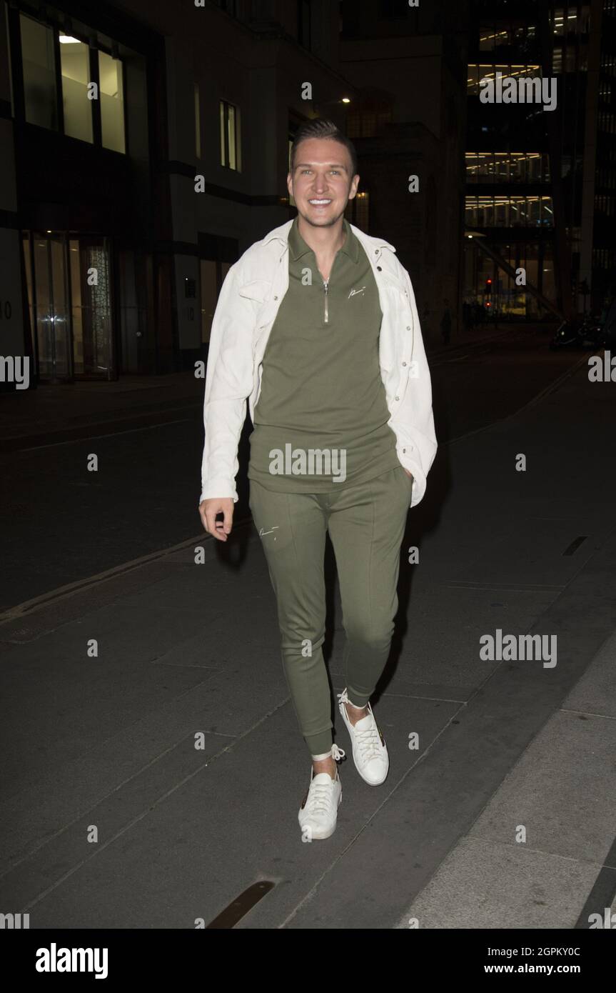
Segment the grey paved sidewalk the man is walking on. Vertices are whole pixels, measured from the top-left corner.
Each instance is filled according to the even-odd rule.
[[[440,448],[373,699],[390,775],[359,779],[334,713],[347,760],[326,841],[301,840],[308,751],[252,524],[0,625],[4,911],[31,927],[193,928],[264,879],[238,927],[566,928],[612,906],[613,389],[582,366]],[[556,665],[482,660],[499,629],[556,636]]]

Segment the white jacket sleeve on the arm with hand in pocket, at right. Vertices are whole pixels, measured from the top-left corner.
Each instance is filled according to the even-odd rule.
[[[411,368],[401,408],[396,413],[396,426],[402,438],[401,461],[413,474],[411,506],[416,506],[426,493],[427,477],[436,455],[436,435],[432,414],[431,375],[420,316],[415,302],[411,277],[404,266],[405,283],[413,317]]]

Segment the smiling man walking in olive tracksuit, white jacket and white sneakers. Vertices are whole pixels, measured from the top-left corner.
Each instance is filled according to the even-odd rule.
[[[436,452],[411,280],[392,245],[344,217],[358,183],[352,143],[331,121],[308,121],[294,141],[287,179],[298,215],[227,273],[205,378],[199,513],[221,541],[238,499],[237,448],[249,399],[250,508],[312,760],[298,815],[310,838],[335,830],[335,763],[344,756],[332,743],[321,650],[325,534],[346,635],[339,710],[355,767],[376,786],[389,756],[369,700],[391,646],[407,512],[424,497]]]

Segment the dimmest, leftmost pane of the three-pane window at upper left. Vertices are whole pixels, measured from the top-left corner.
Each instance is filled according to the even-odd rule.
[[[26,120],[58,130],[54,32],[20,14]]]

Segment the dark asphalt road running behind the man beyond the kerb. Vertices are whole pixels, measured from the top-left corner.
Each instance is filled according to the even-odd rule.
[[[544,331],[512,329],[491,343],[456,347],[431,361],[439,443],[506,417],[580,358],[551,353]],[[5,483],[0,611],[201,533],[198,408],[156,426],[0,455]],[[100,429],[93,429],[94,431]],[[240,501],[248,516],[248,420],[240,444]],[[87,470],[88,456],[98,471]],[[429,491],[430,492],[430,491]]]

